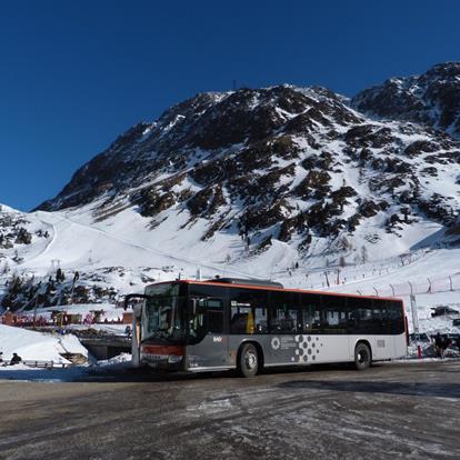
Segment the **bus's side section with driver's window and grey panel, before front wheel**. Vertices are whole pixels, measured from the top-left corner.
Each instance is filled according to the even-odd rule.
[[[223,299],[192,298],[189,314],[189,369],[230,364],[228,334],[223,328]]]

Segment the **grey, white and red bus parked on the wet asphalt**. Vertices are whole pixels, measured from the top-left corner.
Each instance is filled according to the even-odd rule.
[[[372,361],[407,353],[402,300],[221,278],[148,286],[134,308],[134,366],[181,371]]]

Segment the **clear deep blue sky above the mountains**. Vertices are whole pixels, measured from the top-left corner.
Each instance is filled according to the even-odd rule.
[[[0,2],[0,202],[30,210],[139,121],[201,91],[352,96],[460,60],[460,2]]]

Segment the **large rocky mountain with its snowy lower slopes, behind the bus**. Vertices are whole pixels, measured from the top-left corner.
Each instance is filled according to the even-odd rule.
[[[33,212],[0,212],[0,288],[17,271],[40,279],[44,296],[58,266],[67,280],[43,303],[70,292],[71,301],[108,301],[197,268],[370,293],[417,267],[420,282],[456,274],[452,123],[441,131],[397,109],[378,113],[361,107],[362,94],[350,102],[292,86],[203,93],[137,124]],[[87,289],[77,300],[76,271]]]

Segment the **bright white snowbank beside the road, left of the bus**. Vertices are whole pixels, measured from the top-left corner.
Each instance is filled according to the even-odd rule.
[[[63,353],[88,357],[88,350],[74,336],[52,336],[4,324],[0,324],[0,351],[6,362],[11,360],[13,352],[24,361],[53,361],[60,364],[70,363],[61,356]]]

